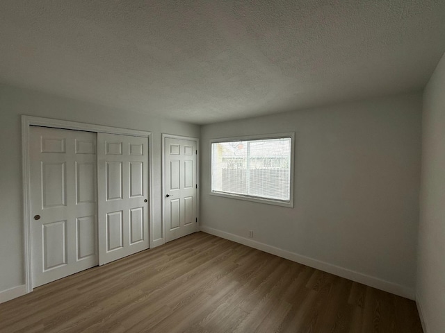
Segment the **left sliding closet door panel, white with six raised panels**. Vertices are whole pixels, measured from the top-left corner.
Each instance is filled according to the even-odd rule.
[[[97,265],[96,134],[31,126],[33,287]]]

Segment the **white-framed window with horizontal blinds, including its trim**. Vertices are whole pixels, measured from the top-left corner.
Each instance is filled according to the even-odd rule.
[[[211,142],[211,194],[293,207],[293,133]]]

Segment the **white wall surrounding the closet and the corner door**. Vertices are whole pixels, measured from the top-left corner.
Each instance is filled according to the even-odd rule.
[[[8,85],[0,85],[0,110],[0,296],[24,284],[21,114],[152,132],[153,239],[161,237],[161,133],[199,137],[199,126]]]

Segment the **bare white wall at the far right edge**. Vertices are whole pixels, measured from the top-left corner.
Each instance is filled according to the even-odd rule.
[[[423,93],[417,301],[428,333],[445,330],[445,55]]]

